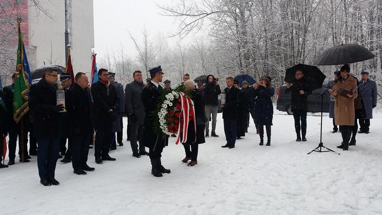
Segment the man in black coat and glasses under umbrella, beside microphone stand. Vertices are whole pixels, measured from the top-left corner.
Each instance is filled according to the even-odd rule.
[[[296,130],[297,142],[301,141],[301,135],[303,136],[303,141],[307,141],[307,112],[308,112],[308,96],[312,94],[309,90],[308,82],[304,78],[304,72],[302,70],[297,70],[295,73],[295,78],[293,83],[286,84],[287,89],[285,89],[285,94],[291,92],[291,107],[294,118],[294,128]],[[301,125],[300,125],[301,121]]]

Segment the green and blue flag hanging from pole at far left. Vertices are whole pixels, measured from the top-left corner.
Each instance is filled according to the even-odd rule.
[[[22,41],[22,32],[20,30],[21,18],[17,18],[17,22],[18,48],[16,73],[18,73],[18,75],[15,79],[15,89],[13,94],[13,119],[15,122],[19,122],[21,117],[29,111],[29,86],[32,83],[31,70],[29,68],[28,59],[26,58],[24,43]]]

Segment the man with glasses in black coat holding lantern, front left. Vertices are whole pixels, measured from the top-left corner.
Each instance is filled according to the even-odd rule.
[[[57,105],[57,79],[57,69],[44,68],[41,80],[31,86],[29,93],[29,108],[34,119],[33,134],[38,143],[37,167],[44,186],[60,184],[54,179],[54,171],[60,151],[60,111],[64,110],[64,106]]]

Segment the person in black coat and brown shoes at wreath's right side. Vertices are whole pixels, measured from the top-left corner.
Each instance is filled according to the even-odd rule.
[[[187,86],[188,84],[189,86]],[[194,87],[191,87],[192,85]],[[199,90],[195,88],[194,82],[192,80],[186,80],[186,82],[184,82],[184,87],[186,88],[186,91],[190,91],[190,97],[194,101],[196,131],[195,122],[194,120],[191,120],[188,123],[187,141],[183,143],[186,157],[182,160],[182,162],[187,163],[188,160],[191,160],[187,166],[192,167],[198,164],[198,145],[206,142],[204,139],[204,128],[208,119],[204,114],[202,97]]]

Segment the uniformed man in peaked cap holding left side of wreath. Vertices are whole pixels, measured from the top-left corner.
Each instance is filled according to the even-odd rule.
[[[145,86],[142,91],[141,99],[143,106],[145,107],[145,121],[143,124],[143,143],[146,147],[149,147],[149,156],[151,160],[151,174],[155,177],[162,177],[162,173],[170,173],[170,170],[165,169],[162,164],[160,157],[162,156],[163,148],[168,145],[169,138],[166,135],[157,136],[154,135],[154,119],[152,117],[152,112],[155,110],[158,99],[160,97],[163,88],[159,86],[162,82],[162,69],[160,66],[154,67],[149,70],[151,81]],[[131,134],[132,135],[132,134]]]

